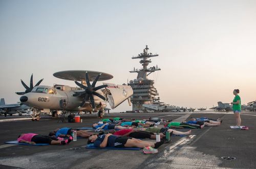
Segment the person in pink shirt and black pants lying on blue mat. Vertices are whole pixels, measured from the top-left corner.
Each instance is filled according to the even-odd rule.
[[[50,145],[66,145],[69,144],[72,140],[72,137],[69,137],[68,139],[58,139],[48,135],[39,135],[35,133],[20,134],[17,139],[19,143],[27,143],[31,145],[39,143],[46,143]]]

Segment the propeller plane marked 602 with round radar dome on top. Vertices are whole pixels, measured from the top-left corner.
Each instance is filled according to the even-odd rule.
[[[103,85],[95,87],[97,81],[112,79],[113,76],[110,74],[96,71],[69,70],[56,72],[53,76],[65,80],[74,80],[78,87],[66,85],[41,86],[40,83],[43,79],[33,86],[32,74],[30,87],[21,80],[26,91],[16,92],[16,94],[22,95],[20,101],[23,104],[33,107],[33,116],[37,120],[40,119],[41,110],[49,113],[56,110],[99,110],[103,112],[107,101],[113,109],[126,99],[131,105],[130,96],[133,95],[133,90],[130,86],[103,83]],[[78,81],[81,81],[81,83]],[[93,82],[90,83],[90,81]]]

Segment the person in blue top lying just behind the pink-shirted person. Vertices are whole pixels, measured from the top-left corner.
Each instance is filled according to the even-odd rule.
[[[65,127],[55,129],[53,132],[49,133],[49,136],[55,135],[56,137],[70,137],[74,130],[76,130],[77,137],[88,138],[91,134],[94,134],[92,132]]]

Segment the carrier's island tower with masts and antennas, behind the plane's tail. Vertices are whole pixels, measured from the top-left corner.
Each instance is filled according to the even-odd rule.
[[[143,49],[143,53],[138,54],[132,59],[140,59],[140,64],[143,66],[141,69],[133,69],[131,73],[138,73],[137,78],[130,80],[129,86],[133,88],[133,96],[131,101],[133,103],[133,111],[144,110],[143,104],[152,104],[158,96],[158,92],[154,87],[154,80],[148,79],[148,75],[155,71],[161,70],[158,66],[147,67],[151,63],[152,57],[158,57],[158,54],[152,54],[148,52],[148,47]]]

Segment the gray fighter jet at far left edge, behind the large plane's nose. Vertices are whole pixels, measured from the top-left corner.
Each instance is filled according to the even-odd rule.
[[[0,100],[0,114],[4,114],[5,117],[8,115],[12,116],[13,114],[18,113],[19,116],[28,112],[29,106],[24,104],[5,104],[5,99]]]

